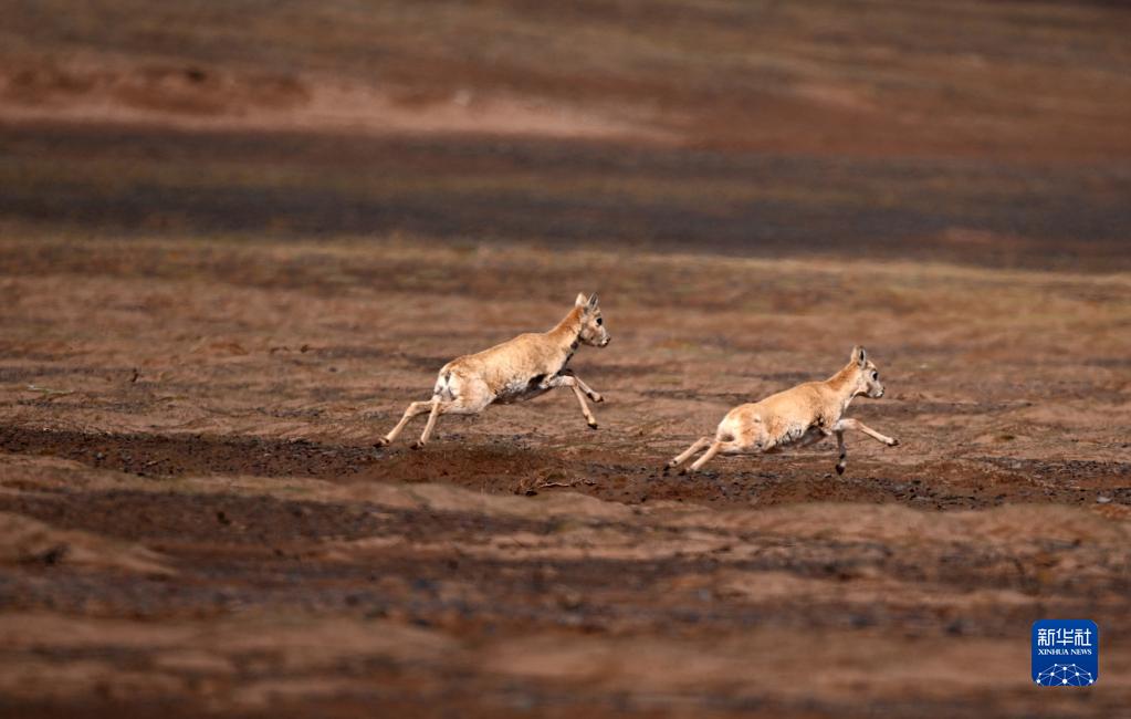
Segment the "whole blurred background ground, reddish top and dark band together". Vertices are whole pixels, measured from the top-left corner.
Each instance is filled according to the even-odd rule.
[[[1125,268],[1100,2],[7,2],[0,209]]]

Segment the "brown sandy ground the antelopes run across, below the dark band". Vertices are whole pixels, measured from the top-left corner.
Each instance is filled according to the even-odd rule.
[[[45,238],[0,266],[9,711],[1126,709],[1115,639],[1094,691],[1027,679],[1036,618],[1131,631],[1125,275]],[[596,286],[601,429],[559,393],[370,446]],[[852,413],[900,447],[658,471],[857,341],[889,393]]]

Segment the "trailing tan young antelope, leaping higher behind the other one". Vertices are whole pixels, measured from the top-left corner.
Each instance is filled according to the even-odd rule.
[[[428,423],[421,438],[413,443],[414,450],[428,443],[441,414],[478,414],[489,404],[530,400],[554,387],[572,390],[585,421],[596,429],[597,420],[585,399],[594,402],[605,399],[566,365],[579,344],[605,346],[608,340],[597,296],[586,299],[585,294],[578,294],[573,309],[550,332],[520,334],[490,350],[465,354],[444,365],[432,388],[432,399],[409,404],[397,426],[378,439],[375,446],[383,447],[396,439],[417,414],[428,412]]]

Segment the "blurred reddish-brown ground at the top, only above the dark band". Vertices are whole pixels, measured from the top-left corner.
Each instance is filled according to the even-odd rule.
[[[1131,152],[1117,2],[5,5],[0,117],[607,137],[760,152]]]

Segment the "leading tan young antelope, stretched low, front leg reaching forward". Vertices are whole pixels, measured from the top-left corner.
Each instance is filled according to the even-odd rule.
[[[844,474],[848,453],[845,430],[856,429],[889,447],[899,444],[860,420],[845,418],[848,403],[864,394],[873,400],[883,396],[880,373],[867,359],[864,348],[853,348],[844,369],[824,382],[806,382],[761,402],[740,404],[723,418],[715,437],[700,437],[688,450],[664,467],[664,471],[682,467],[692,455],[706,448],[691,465],[697,471],[716,454],[762,454],[780,452],[787,446],[804,447],[830,436],[837,436],[840,460],[837,473]],[[687,468],[680,470],[683,474]]]

